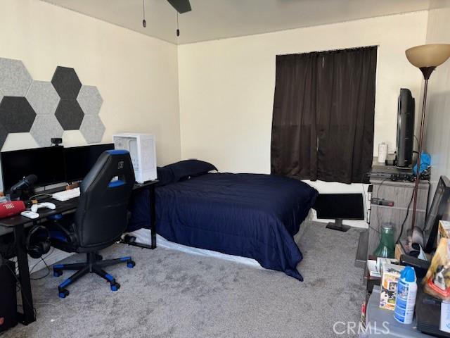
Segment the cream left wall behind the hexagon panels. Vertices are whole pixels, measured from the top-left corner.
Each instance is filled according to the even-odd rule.
[[[51,80],[57,65],[75,68],[103,96],[103,142],[117,132],[157,139],[158,164],[180,158],[177,47],[38,0],[0,0],[0,57],[23,61],[34,80]],[[85,144],[65,132],[66,146]],[[34,147],[11,134],[3,151]]]

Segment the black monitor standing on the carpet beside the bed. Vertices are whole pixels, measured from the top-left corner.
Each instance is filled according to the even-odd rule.
[[[317,218],[335,219],[328,229],[347,231],[349,227],[342,220],[364,220],[363,194],[319,194],[314,204]]]

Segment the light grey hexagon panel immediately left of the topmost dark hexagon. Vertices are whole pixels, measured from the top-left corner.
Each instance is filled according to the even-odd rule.
[[[59,103],[58,93],[47,81],[33,81],[26,97],[38,115],[55,113]]]

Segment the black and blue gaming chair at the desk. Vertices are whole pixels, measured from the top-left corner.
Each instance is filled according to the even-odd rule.
[[[98,158],[80,186],[77,211],[71,220],[62,218],[46,223],[51,244],[66,252],[86,253],[84,263],[53,265],[53,275],[63,270],[77,270],[58,286],[60,298],[68,296],[70,284],[87,273],[96,273],[110,282],[111,290],[120,284],[104,270],[105,266],[127,263],[133,268],[131,257],[103,261],[98,251],[117,242],[127,227],[127,206],[134,185],[134,170],[128,151],[108,150]]]

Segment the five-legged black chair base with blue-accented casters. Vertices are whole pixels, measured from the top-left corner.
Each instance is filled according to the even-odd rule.
[[[134,268],[134,265],[136,265],[136,263],[134,263],[134,261],[129,256],[116,259],[108,259],[105,261],[103,261],[102,256],[98,255],[95,252],[89,252],[86,254],[86,256],[87,257],[85,263],[53,265],[53,276],[55,277],[63,275],[63,270],[77,270],[75,274],[59,284],[58,294],[60,298],[65,298],[69,295],[69,290],[66,289],[66,287],[68,287],[70,284],[73,284],[74,282],[79,280],[79,278],[88,273],[95,273],[96,275],[99,275],[104,280],[110,283],[111,291],[117,291],[120,288],[120,284],[115,281],[115,278],[112,275],[106,273],[102,268],[119,263],[127,263],[128,268]]]

